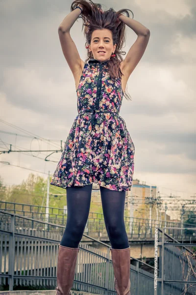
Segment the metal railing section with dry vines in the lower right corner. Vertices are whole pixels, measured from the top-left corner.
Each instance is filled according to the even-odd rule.
[[[167,234],[171,228],[156,228],[154,295],[196,294],[196,228],[178,228],[192,234],[192,242],[180,243]],[[158,275],[159,247],[159,275]]]

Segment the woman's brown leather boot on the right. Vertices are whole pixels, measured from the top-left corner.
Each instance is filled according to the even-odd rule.
[[[112,264],[115,276],[115,290],[118,295],[130,295],[130,246],[125,249],[112,249]]]

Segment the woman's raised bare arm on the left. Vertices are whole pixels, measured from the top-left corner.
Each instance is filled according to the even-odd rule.
[[[80,7],[82,9],[81,5]],[[74,78],[78,73],[81,72],[84,66],[84,61],[80,59],[75,43],[73,42],[73,39],[70,35],[70,29],[80,14],[81,10],[79,8],[74,9],[64,18],[58,28],[62,51]]]

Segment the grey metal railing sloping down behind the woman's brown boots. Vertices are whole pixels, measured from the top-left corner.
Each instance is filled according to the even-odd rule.
[[[0,223],[1,289],[55,289],[58,244],[62,237],[59,230],[55,230],[61,229],[63,232],[64,226],[1,210],[0,214],[3,216]],[[26,220],[32,227],[21,228],[21,220]],[[110,246],[86,234],[83,236],[97,242],[105,251],[80,242],[73,290],[116,294]],[[130,259],[131,294],[151,295],[154,276],[142,269],[148,265],[132,257]]]

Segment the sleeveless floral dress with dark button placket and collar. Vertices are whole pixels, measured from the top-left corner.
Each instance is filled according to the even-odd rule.
[[[121,79],[109,75],[108,60],[84,64],[73,121],[51,185],[62,188],[97,183],[114,191],[131,190],[135,147],[119,116]]]

